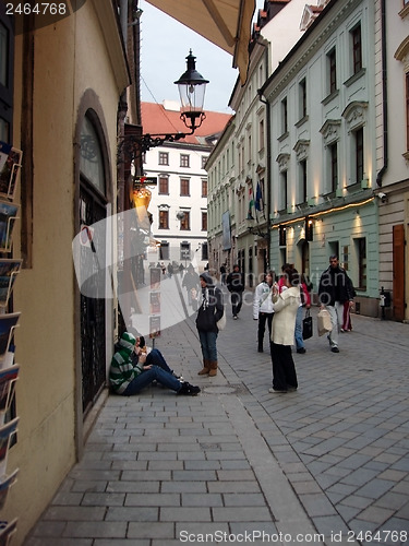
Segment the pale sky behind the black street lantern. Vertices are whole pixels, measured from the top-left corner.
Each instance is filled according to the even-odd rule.
[[[171,0],[169,0],[171,1]],[[257,9],[264,0],[257,0]],[[232,68],[232,57],[199,34],[181,25],[145,0],[140,0],[141,15],[141,94],[142,100],[161,104],[178,100],[179,80],[187,70],[185,58],[192,49],[196,70],[209,80],[205,110],[231,114],[230,100],[239,71]],[[256,12],[257,13],[257,10]]]

